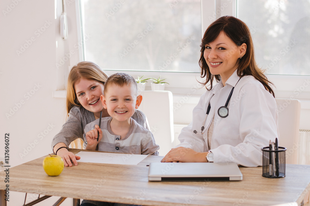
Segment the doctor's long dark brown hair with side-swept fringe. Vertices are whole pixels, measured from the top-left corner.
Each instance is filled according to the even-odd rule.
[[[240,46],[243,43],[246,44],[246,54],[241,59],[238,59],[237,75],[239,77],[246,75],[255,77],[255,79],[260,81],[264,85],[265,89],[274,97],[274,92],[270,86],[273,85],[272,82],[267,79],[263,73],[263,70],[260,69],[255,62],[254,46],[249,28],[243,21],[233,16],[222,16],[218,20],[215,20],[212,24],[210,24],[203,35],[200,45],[201,55],[199,65],[201,68],[201,77],[206,77],[206,81],[200,83],[205,86],[208,82],[210,82],[210,88],[208,90],[211,90],[212,80],[214,78],[217,82],[221,80],[220,75],[211,74],[203,56],[205,45],[213,42],[219,36],[221,31],[223,31],[225,35],[229,37],[237,46]]]

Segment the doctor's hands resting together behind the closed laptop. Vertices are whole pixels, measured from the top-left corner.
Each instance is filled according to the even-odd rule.
[[[208,152],[196,152],[190,148],[177,147],[171,149],[161,162],[207,162]]]

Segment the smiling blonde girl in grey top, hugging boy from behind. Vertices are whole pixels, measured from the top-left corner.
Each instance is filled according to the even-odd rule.
[[[69,145],[74,140],[81,138],[85,125],[100,117],[109,116],[104,109],[100,96],[104,91],[104,83],[108,75],[93,62],[80,62],[73,66],[68,77],[66,105],[68,117],[60,132],[53,138],[53,152],[61,156],[64,166],[78,165],[79,156],[68,151]],[[149,130],[145,115],[135,110],[132,118],[139,125]]]

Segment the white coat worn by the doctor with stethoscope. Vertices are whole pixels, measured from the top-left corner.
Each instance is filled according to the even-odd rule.
[[[176,147],[188,147],[197,152],[210,150],[214,162],[235,162],[246,167],[262,165],[261,148],[268,147],[269,140],[274,142],[279,138],[276,101],[253,76],[244,76],[237,83],[238,80],[235,71],[226,86],[219,81],[212,90],[202,94],[193,109],[193,121],[182,129],[181,143]],[[225,105],[233,86],[228,116],[221,118],[217,111]],[[206,132],[194,134],[193,130],[201,133],[209,103],[211,109],[204,125]],[[208,148],[207,131],[213,118],[211,148]]]

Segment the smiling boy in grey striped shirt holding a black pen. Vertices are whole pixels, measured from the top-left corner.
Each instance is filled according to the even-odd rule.
[[[85,149],[96,150],[98,146],[99,151],[158,155],[153,134],[131,118],[142,101],[133,77],[125,73],[111,75],[100,99],[110,117],[102,118],[101,128],[99,119],[85,126]]]

